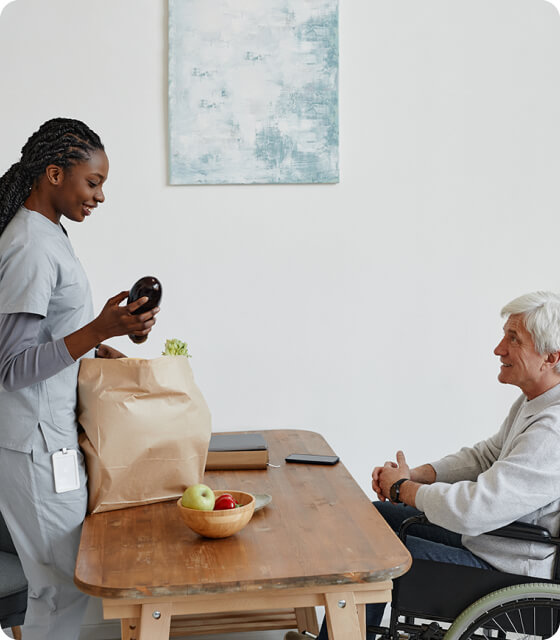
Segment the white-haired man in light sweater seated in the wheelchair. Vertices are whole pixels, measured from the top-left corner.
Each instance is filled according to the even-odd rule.
[[[519,387],[522,395],[499,431],[414,469],[399,451],[396,462],[373,470],[372,487],[381,501],[375,506],[394,530],[417,509],[443,528],[429,534],[417,528],[407,539],[413,558],[551,578],[552,547],[484,532],[522,520],[558,534],[560,296],[526,294],[507,304],[502,316],[504,337],[494,349],[501,362],[498,380]],[[379,625],[383,609],[368,605],[368,624]],[[327,637],[323,624],[319,638]],[[298,638],[305,636],[286,635]]]

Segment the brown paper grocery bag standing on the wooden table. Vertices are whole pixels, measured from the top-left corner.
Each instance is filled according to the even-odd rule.
[[[186,356],[84,358],[78,420],[89,513],[177,498],[202,480],[210,412]]]

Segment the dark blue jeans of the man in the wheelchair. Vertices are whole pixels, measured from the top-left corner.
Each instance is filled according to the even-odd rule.
[[[407,518],[418,515],[420,511],[403,504],[390,502],[373,503],[391,528],[398,532],[402,522]],[[492,567],[478,558],[461,544],[461,536],[441,527],[413,525],[408,529],[406,546],[410,555],[418,560],[435,560],[436,562],[448,562],[461,564],[467,567],[480,569],[492,569]],[[381,624],[385,604],[366,605],[366,624],[378,626]],[[327,624],[323,620],[319,640],[327,640]],[[375,634],[367,634],[367,640],[374,640]]]

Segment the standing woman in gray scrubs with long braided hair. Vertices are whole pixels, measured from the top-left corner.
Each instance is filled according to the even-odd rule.
[[[77,639],[87,596],[73,583],[87,505],[76,419],[79,360],[120,357],[103,340],[146,335],[147,298],[122,291],[94,317],[61,224],[105,200],[101,140],[78,120],[45,122],[0,178],[0,512],[29,583],[25,640]]]

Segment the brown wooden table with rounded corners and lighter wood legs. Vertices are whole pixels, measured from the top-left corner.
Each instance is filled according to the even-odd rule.
[[[390,600],[410,555],[342,462],[286,464],[290,453],[333,452],[311,431],[262,433],[279,468],[205,474],[214,489],[272,496],[230,538],[193,533],[175,502],[86,518],[75,582],[122,620],[123,640],[167,640],[171,616],[185,614],[291,608],[301,626],[315,606],[331,640],[358,640],[365,604]]]

